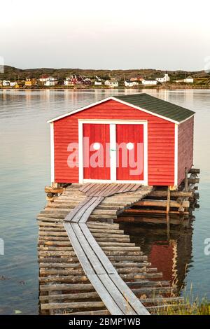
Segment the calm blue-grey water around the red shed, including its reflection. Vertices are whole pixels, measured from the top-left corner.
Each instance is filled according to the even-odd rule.
[[[138,225],[129,230],[166,278],[179,276],[188,290],[193,284],[194,295],[210,298],[210,256],[204,255],[204,239],[210,237],[210,91],[146,92],[196,111],[194,159],[202,170],[200,209],[195,210],[192,229],[174,228],[169,238],[164,227]],[[0,255],[0,314],[38,313],[36,214],[45,205],[43,188],[50,183],[46,121],[108,94],[113,91],[0,91],[0,238],[5,244],[5,255]]]

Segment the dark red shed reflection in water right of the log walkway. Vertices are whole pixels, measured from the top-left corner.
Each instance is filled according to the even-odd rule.
[[[123,223],[120,229],[148,256],[152,267],[162,272],[164,280],[175,283],[179,290],[185,288],[185,279],[192,265],[193,228],[187,225],[170,225],[153,223]]]

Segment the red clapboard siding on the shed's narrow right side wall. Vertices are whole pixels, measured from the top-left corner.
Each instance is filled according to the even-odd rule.
[[[193,165],[193,130],[194,117],[178,127],[178,185],[185,178],[185,168]]]

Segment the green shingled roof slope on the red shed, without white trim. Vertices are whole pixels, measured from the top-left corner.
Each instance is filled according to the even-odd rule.
[[[158,114],[159,116],[177,121],[178,123],[190,118],[190,116],[193,116],[195,113],[181,106],[153,97],[150,94],[114,95],[113,97],[134,106],[141,107],[141,109],[150,111],[154,114]]]

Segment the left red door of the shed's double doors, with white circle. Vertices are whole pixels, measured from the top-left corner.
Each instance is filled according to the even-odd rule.
[[[83,179],[110,180],[109,124],[83,125]]]

